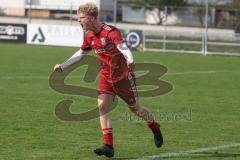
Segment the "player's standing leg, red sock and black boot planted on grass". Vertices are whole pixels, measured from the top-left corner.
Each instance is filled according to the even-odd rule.
[[[100,94],[98,96],[98,107],[100,115],[100,124],[103,133],[104,145],[94,150],[97,155],[105,155],[107,157],[114,156],[112,124],[109,117],[114,96],[111,94]]]

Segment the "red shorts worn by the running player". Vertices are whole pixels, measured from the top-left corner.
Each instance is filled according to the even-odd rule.
[[[100,75],[98,94],[112,94],[118,95],[129,106],[134,106],[137,102],[138,94],[136,88],[136,80],[133,73],[129,73],[128,76],[117,82],[110,82],[106,78]]]

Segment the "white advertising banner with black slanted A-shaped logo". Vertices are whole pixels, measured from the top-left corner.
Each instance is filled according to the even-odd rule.
[[[27,43],[80,47],[83,43],[81,26],[28,24]]]

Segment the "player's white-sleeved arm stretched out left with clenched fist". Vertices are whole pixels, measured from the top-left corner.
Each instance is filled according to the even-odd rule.
[[[73,64],[80,62],[87,53],[88,53],[88,51],[83,51],[82,49],[79,49],[77,52],[75,52],[70,58],[68,58],[62,64],[56,64],[54,66],[54,71],[57,71],[57,72],[64,71],[65,69],[72,66]]]

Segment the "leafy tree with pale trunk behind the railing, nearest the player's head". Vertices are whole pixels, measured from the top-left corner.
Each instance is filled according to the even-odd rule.
[[[145,8],[145,10],[157,11],[159,22],[162,24],[164,16],[161,12],[164,10],[164,7],[177,7],[187,4],[187,0],[131,0],[132,4],[136,8]],[[167,16],[167,15],[166,15]]]

